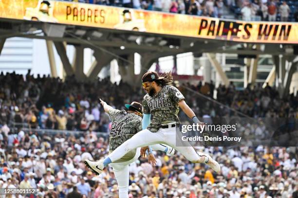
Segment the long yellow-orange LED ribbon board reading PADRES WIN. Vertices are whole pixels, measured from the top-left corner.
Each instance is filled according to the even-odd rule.
[[[0,17],[226,41],[298,44],[298,23],[224,20],[54,0],[0,0]]]

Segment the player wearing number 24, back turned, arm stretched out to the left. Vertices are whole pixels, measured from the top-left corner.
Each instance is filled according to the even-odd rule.
[[[142,105],[138,102],[132,102],[131,104],[125,104],[125,107],[128,109],[127,111],[120,111],[113,109],[101,99],[100,102],[103,105],[105,112],[107,112],[112,119],[109,142],[110,152],[112,152],[126,140],[130,139],[134,134],[142,130]],[[173,155],[175,152],[175,149],[161,144],[152,145],[151,148],[154,150],[164,151],[169,155]],[[141,148],[131,149],[123,157],[121,157],[121,159],[118,159],[110,164],[118,182],[119,198],[128,198],[129,164],[139,158],[140,149]],[[156,160],[153,154],[149,154],[148,159],[152,165],[155,165]],[[86,162],[85,164],[91,168],[93,172],[98,174],[96,166],[90,166],[89,163]]]

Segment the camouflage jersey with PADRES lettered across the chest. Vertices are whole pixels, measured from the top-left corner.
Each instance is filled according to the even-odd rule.
[[[151,114],[151,121],[147,129],[157,132],[162,123],[175,121],[180,124],[178,118],[178,102],[185,99],[182,93],[174,86],[164,85],[154,96],[146,94],[143,99],[143,113]]]

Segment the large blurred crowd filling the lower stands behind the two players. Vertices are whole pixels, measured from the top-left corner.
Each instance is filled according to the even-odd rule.
[[[117,109],[141,101],[142,89],[109,80],[80,83],[75,78],[34,78],[15,73],[0,74],[0,188],[34,187],[37,197],[117,198],[117,183],[111,169],[95,176],[82,163],[98,160],[109,152],[106,137],[109,115],[97,104],[105,99]],[[280,99],[270,86],[235,89],[214,84],[185,84],[179,89],[199,116],[233,115],[228,108],[198,97],[196,92],[252,117],[298,118],[298,97]],[[125,92],[123,91],[125,90]],[[216,90],[216,94],[214,93]],[[183,115],[181,115],[183,119]],[[26,131],[14,128],[25,123]],[[42,129],[83,131],[43,133]],[[298,164],[296,147],[196,147],[221,163],[216,174],[203,164],[189,163],[176,153],[158,152],[157,165],[144,158],[130,165],[131,198],[296,198]]]

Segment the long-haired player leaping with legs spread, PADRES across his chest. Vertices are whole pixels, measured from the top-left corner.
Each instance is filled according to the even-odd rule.
[[[143,130],[116,148],[104,160],[86,163],[100,174],[105,166],[119,160],[131,150],[162,143],[178,150],[190,162],[205,163],[215,172],[219,172],[220,165],[208,154],[196,153],[190,144],[187,147],[176,146],[176,131],[179,131],[176,127],[180,123],[177,116],[179,107],[189,118],[192,118],[194,123],[199,125],[204,123],[199,121],[186,104],[182,93],[176,87],[169,85],[172,80],[171,73],[166,73],[164,77],[159,77],[154,71],[145,73],[142,82],[148,94],[143,99]]]

